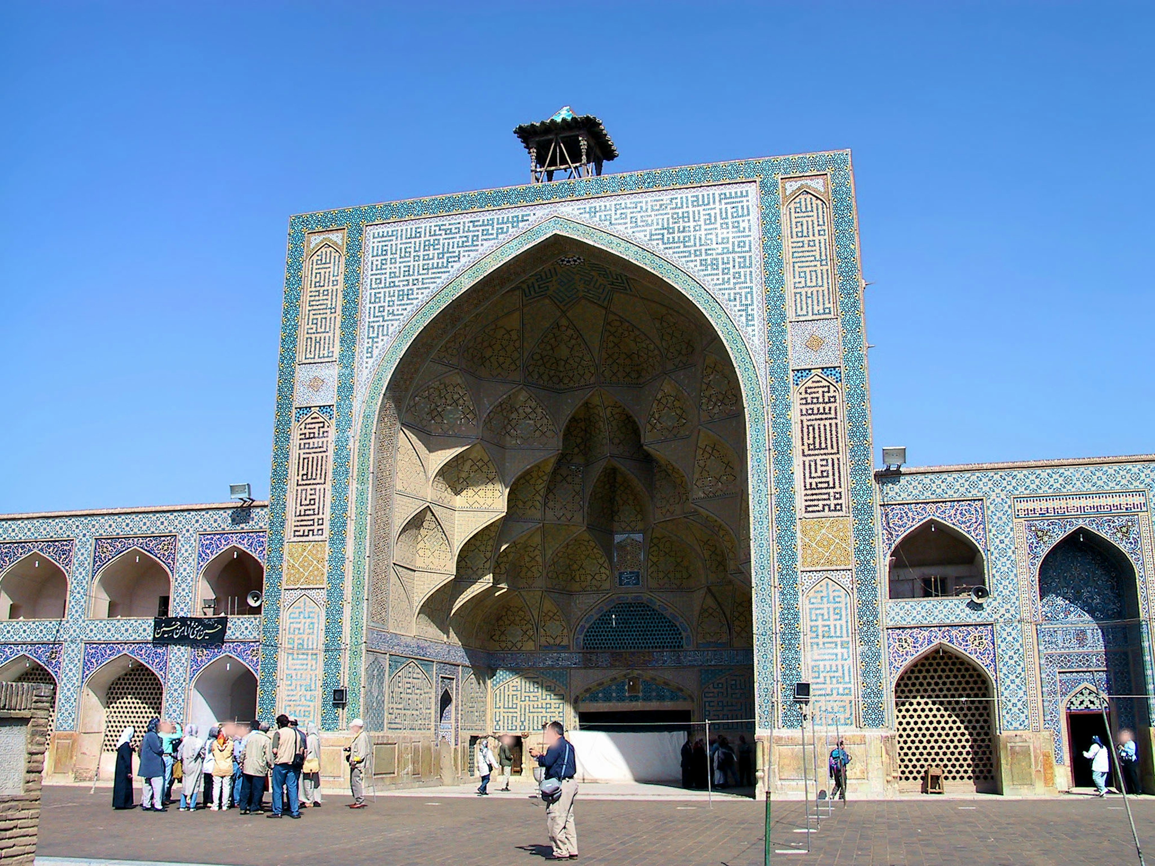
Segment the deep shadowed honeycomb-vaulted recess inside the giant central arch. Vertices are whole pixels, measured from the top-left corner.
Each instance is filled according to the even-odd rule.
[[[711,607],[707,625],[720,632],[715,620],[732,620],[733,636],[707,643],[751,644],[748,513],[765,525],[768,501],[751,492],[765,477],[747,477],[747,435],[758,445],[765,434],[754,367],[732,351],[740,338],[714,301],[677,274],[661,275],[549,237],[447,306],[435,300],[419,330],[398,336],[396,360],[383,363],[380,388],[366,396],[377,425],[362,428],[373,442],[373,480],[370,518],[357,531],[371,533],[375,622],[467,651],[582,649],[576,624],[621,603],[609,611],[610,628],[620,618],[636,634],[608,643],[691,649],[687,624],[702,619],[692,593],[710,585],[720,612]],[[449,403],[459,410],[450,421],[468,425],[446,420],[438,408]],[[438,469],[483,449],[495,468],[484,480],[495,477],[501,491],[477,509],[504,514],[463,508],[464,487]],[[681,536],[692,574],[651,587],[655,521],[673,517],[686,527],[666,535]],[[483,521],[492,537],[477,529]],[[730,589],[738,572],[742,603]],[[642,593],[654,604],[635,611]]]

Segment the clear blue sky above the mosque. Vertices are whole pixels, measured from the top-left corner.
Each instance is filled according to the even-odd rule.
[[[5,3],[0,512],[267,495],[289,215],[562,104],[614,171],[852,149],[877,447],[1155,451],[1150,5],[551,8]]]

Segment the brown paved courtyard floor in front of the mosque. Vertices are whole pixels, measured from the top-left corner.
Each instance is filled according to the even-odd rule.
[[[267,800],[268,798],[266,798]],[[236,866],[536,866],[549,853],[545,809],[523,793],[489,798],[381,796],[366,809],[328,797],[299,821],[178,812],[114,812],[111,791],[46,786],[40,858]],[[579,863],[591,866],[760,866],[763,804],[716,799],[594,800],[579,793]],[[1155,798],[1132,800],[1140,841],[1155,852]],[[805,851],[803,808],[774,804],[772,846]],[[900,799],[836,805],[812,852],[775,863],[903,866],[1137,863],[1118,797]]]

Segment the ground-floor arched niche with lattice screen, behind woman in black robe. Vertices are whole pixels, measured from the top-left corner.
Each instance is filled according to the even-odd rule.
[[[140,659],[124,654],[105,662],[81,689],[76,778],[90,779],[99,761],[99,777],[111,778],[120,732],[135,729],[133,748],[140,748],[150,718],[164,706],[164,681]]]

